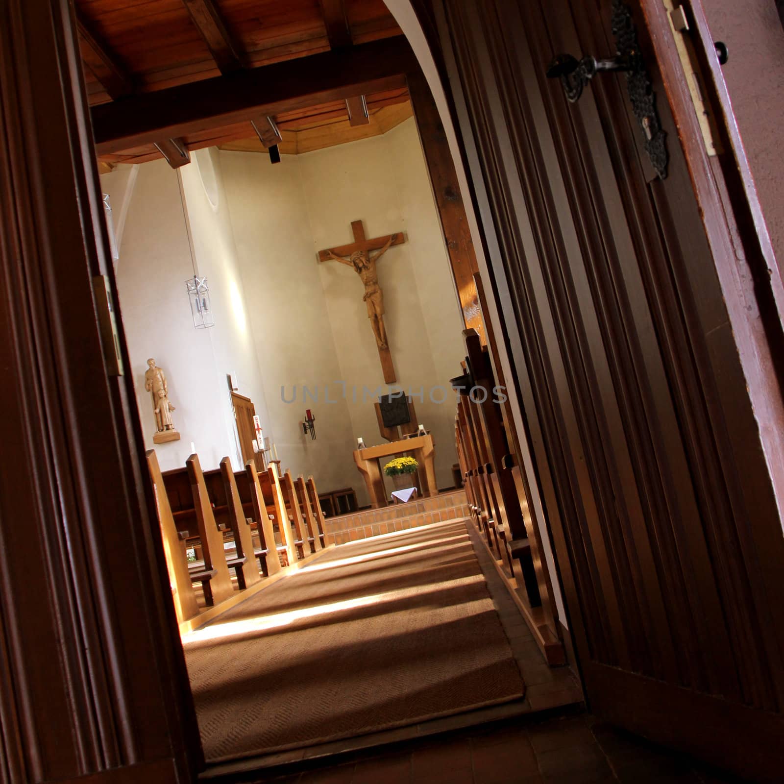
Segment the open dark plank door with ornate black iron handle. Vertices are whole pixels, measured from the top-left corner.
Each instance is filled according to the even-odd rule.
[[[717,155],[665,5],[627,2],[663,180],[624,74],[573,104],[546,78],[558,53],[615,53],[610,0],[429,5],[590,707],[779,776],[780,281],[753,194],[731,179],[742,150],[719,122],[699,0],[690,68],[717,102]]]

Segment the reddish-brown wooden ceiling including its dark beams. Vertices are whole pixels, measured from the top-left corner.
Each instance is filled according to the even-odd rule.
[[[385,41],[401,30],[382,0],[76,0],[76,14],[103,170],[213,145],[311,151],[411,116],[401,69],[377,62],[405,47]]]

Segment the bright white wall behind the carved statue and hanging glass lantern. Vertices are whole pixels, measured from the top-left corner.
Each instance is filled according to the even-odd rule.
[[[125,216],[117,268],[118,299],[128,339],[136,397],[146,448],[154,448],[163,470],[181,467],[194,442],[205,469],[230,456],[239,468],[241,456],[226,380],[237,372],[241,394],[263,411],[263,387],[256,352],[243,311],[242,283],[231,234],[227,202],[214,151],[199,153],[198,162],[184,167],[183,187],[194,235],[199,273],[208,277],[216,326],[194,328],[185,281],[193,275],[191,254],[180,202],[176,172],[164,161],[141,165]],[[213,209],[201,184],[199,162],[210,170]],[[112,196],[125,187],[122,169],[102,176]],[[180,441],[154,445],[152,405],[144,390],[147,358],[162,367]],[[262,411],[259,411],[259,407]]]

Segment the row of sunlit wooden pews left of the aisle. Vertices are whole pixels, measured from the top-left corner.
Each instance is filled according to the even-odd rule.
[[[196,455],[162,472],[154,450],[147,467],[178,622],[200,612],[195,586],[207,606],[220,604],[234,595],[232,573],[246,590],[325,547],[313,477],[280,476],[274,463],[257,471],[251,460],[235,473],[227,457],[203,471]]]

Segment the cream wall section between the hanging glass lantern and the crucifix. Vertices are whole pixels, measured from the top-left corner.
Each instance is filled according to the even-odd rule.
[[[296,156],[275,165],[264,154],[222,152],[234,236],[249,303],[249,321],[278,456],[292,474],[313,474],[318,488],[362,489],[351,452],[355,441],[346,401],[303,402],[303,386],[341,378],[324,289],[313,254]],[[281,396],[285,387],[288,400]],[[336,397],[332,394],[332,397]],[[305,435],[305,409],[316,416],[315,441]]]

